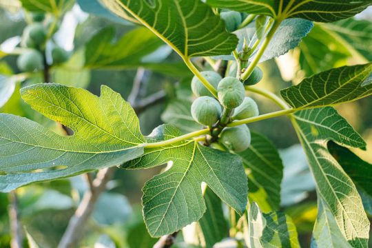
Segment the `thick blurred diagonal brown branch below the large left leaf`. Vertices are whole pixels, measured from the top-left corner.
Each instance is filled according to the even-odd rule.
[[[110,167],[101,169],[98,172],[96,178],[92,182],[92,188],[85,192],[83,200],[81,200],[81,203],[76,209],[74,216],[70,218],[68,228],[59,242],[59,248],[76,247],[76,245],[79,243],[85,224],[92,215],[94,206],[96,205],[99,196],[105,191],[106,185],[114,175],[115,170],[116,167]]]

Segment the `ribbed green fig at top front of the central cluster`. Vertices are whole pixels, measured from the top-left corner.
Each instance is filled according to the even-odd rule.
[[[227,76],[218,83],[218,100],[220,103],[228,108],[234,109],[238,107],[245,97],[245,88],[242,83],[232,77]]]

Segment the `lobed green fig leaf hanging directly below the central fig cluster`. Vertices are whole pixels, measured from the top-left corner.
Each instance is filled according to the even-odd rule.
[[[162,125],[147,141],[164,141],[179,135],[175,127]],[[244,213],[248,187],[239,156],[190,140],[145,149],[143,156],[123,167],[143,169],[165,163],[170,163],[170,168],[143,187],[143,216],[152,236],[171,234],[203,216],[206,207],[202,182],[239,214]]]

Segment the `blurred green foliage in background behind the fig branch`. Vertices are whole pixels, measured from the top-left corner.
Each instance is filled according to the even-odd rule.
[[[146,62],[138,61],[136,54],[130,54],[125,59],[116,58],[117,63],[109,63],[105,58],[95,58],[94,61],[98,49],[94,44],[97,33],[96,39],[103,42],[103,38],[107,38],[107,35],[99,32],[103,32],[102,30],[112,32],[114,35],[112,41],[109,39],[104,46],[109,48],[112,42],[118,42],[118,51],[121,51],[128,49],[128,44],[136,43],[132,40],[120,47],[122,37],[130,34],[137,26],[116,18],[104,9],[94,8],[94,4],[99,2],[90,1],[86,5],[85,3],[87,1],[79,0],[75,5],[69,6],[59,23],[60,30],[54,34],[54,42],[68,50],[72,56],[63,65],[52,68],[52,81],[85,87],[94,94],[99,94],[101,85],[108,85],[127,99],[132,91],[136,68],[143,66],[145,87],[141,88],[139,96],[144,98],[162,90],[167,94],[166,101],[150,106],[139,116],[143,133],[149,134],[154,127],[164,121],[178,125],[185,132],[187,129],[198,128],[191,117],[185,116],[191,105],[189,99],[192,94],[189,85],[192,75],[185,69],[178,56],[163,43],[152,41],[153,49],[149,48],[150,45],[143,44]],[[10,54],[1,58],[1,51],[6,52],[6,49],[14,46],[12,43],[17,43],[17,39],[19,40],[27,25],[29,15],[30,12],[21,8],[19,1],[0,0],[0,44],[2,44],[0,74],[2,75],[20,73],[16,64],[17,55]],[[327,25],[316,23],[315,28],[303,39],[298,48],[278,59],[259,65],[265,75],[260,83],[261,86],[279,93],[280,89],[299,83],[304,76],[333,67],[371,61],[371,17],[372,11],[369,8],[357,17],[358,20],[348,19]],[[114,50],[112,47],[110,49]],[[107,54],[107,56],[114,56],[110,55],[110,51]],[[104,55],[105,52],[102,56]],[[87,63],[89,61],[90,63]],[[199,59],[196,63],[202,66],[204,62]],[[208,65],[205,67],[208,68]],[[8,103],[0,108],[0,112],[25,116],[56,132],[61,132],[56,123],[37,114],[21,100],[20,87],[32,83],[43,83],[42,76],[17,82],[14,94]],[[261,113],[276,110],[275,105],[260,96],[252,94],[251,97],[258,101]],[[340,114],[347,118],[368,143],[366,151],[358,149],[354,152],[369,163],[372,163],[371,108],[371,97],[337,107]],[[282,181],[282,210],[293,218],[302,246],[309,247],[317,214],[315,186],[291,123],[284,117],[254,123],[250,127],[252,130],[264,133],[280,149],[285,165],[285,176]],[[94,245],[96,247],[100,247],[99,245],[101,247],[152,247],[156,240],[149,237],[143,223],[141,188],[145,181],[158,171],[158,168],[117,171],[109,183],[109,189],[101,195],[96,205],[92,219],[85,230],[81,247],[94,247]],[[79,205],[85,190],[87,184],[83,176],[37,183],[17,190],[21,224],[27,227],[28,233],[40,247],[58,245],[68,220]],[[178,247],[187,246],[182,236],[178,239]],[[26,241],[25,246],[27,246]],[[6,194],[0,194],[0,247],[10,247]]]

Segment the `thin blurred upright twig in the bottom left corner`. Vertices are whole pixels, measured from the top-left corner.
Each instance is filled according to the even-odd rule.
[[[10,247],[12,248],[21,248],[23,234],[21,228],[21,221],[19,218],[19,209],[18,209],[18,197],[15,191],[9,193],[9,220],[10,220],[10,232],[12,234],[12,240],[10,241]]]

